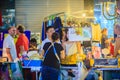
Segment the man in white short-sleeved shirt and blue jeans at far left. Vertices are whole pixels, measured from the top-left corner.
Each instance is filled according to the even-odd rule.
[[[14,43],[15,34],[16,34],[16,28],[14,26],[9,27],[8,35],[3,42],[3,57],[7,57],[8,62],[10,62],[8,64],[8,66],[10,66],[10,69],[8,68],[9,69],[8,75],[9,76],[11,75],[10,76],[11,80],[23,80],[23,76],[18,64],[18,58],[17,58],[16,48]],[[5,80],[8,80],[7,75],[5,76]]]

